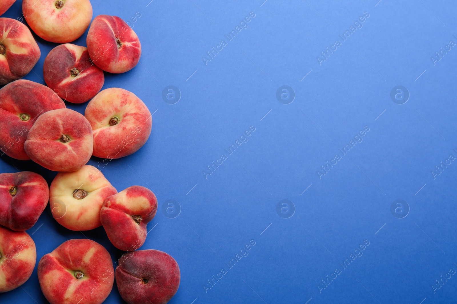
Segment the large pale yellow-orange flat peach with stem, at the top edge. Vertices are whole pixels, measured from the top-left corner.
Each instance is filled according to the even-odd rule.
[[[56,43],[78,39],[92,20],[89,0],[22,0],[22,12],[35,34]]]

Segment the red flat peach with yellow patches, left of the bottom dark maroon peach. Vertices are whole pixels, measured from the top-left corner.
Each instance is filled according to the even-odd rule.
[[[101,304],[113,287],[113,263],[99,243],[69,240],[41,258],[38,281],[51,304]]]

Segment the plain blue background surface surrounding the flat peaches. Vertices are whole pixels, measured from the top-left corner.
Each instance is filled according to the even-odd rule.
[[[141,249],[179,263],[181,286],[170,303],[455,303],[457,278],[431,287],[457,270],[457,163],[431,173],[457,156],[457,47],[431,59],[457,43],[455,1],[149,1],[91,1],[94,17],[129,21],[143,49],[130,72],[105,73],[103,88],[125,88],[154,113],[144,147],[99,168],[118,191],[143,185],[157,195]],[[228,42],[224,35],[250,12],[248,28]],[[362,27],[319,65],[321,52],[365,12]],[[4,16],[20,18],[21,1]],[[85,46],[85,38],[74,44]],[[44,84],[43,61],[56,44],[36,39],[42,56],[25,78]],[[205,65],[221,40],[228,45]],[[173,105],[162,98],[169,85],[181,91]],[[283,85],[294,90],[292,103],[276,99]],[[398,85],[410,94],[404,104],[390,97]],[[85,106],[67,103],[80,113]],[[205,179],[207,165],[250,126],[249,141]],[[363,141],[342,156],[338,149],[365,126]],[[336,154],[342,159],[319,178]],[[1,159],[0,172],[30,170],[49,183],[56,174]],[[290,218],[292,204],[276,212],[284,199],[295,206]],[[404,218],[391,212],[398,199],[409,206]],[[179,202],[179,216],[165,216],[167,200]],[[28,233],[38,260],[70,238],[101,243],[113,262],[123,253],[103,228],[71,232],[49,207]],[[249,255],[205,289],[251,240]],[[319,290],[366,240],[363,255]],[[22,288],[0,294],[1,303],[32,299],[46,303],[36,268]],[[106,303],[123,303],[116,284]]]

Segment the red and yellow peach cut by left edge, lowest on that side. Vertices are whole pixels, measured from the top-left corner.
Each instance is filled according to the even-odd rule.
[[[32,275],[37,250],[27,232],[0,226],[0,293],[13,290]]]

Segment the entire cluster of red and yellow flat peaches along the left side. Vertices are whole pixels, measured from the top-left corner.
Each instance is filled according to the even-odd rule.
[[[0,15],[15,2],[1,0]],[[38,263],[38,280],[51,304],[100,304],[116,276],[127,303],[165,304],[176,293],[180,270],[158,250],[136,250],[157,199],[142,186],[119,193],[94,166],[131,155],[149,138],[152,118],[146,105],[121,88],[100,92],[104,71],[127,72],[141,56],[136,33],[117,16],[99,15],[91,23],[90,0],[22,0],[32,31],[56,46],[44,61],[47,86],[21,80],[41,53],[32,32],[15,19],[0,18],[0,150],[17,160],[33,160],[58,171],[48,188],[34,172],[0,174],[0,292],[25,283],[37,253],[25,232],[48,204],[55,220],[73,231],[103,226],[112,244],[126,251],[116,270],[108,251],[89,239],[64,242]],[[68,42],[89,27],[87,48]],[[100,93],[99,93],[100,92]],[[66,108],[88,103],[85,114]]]

